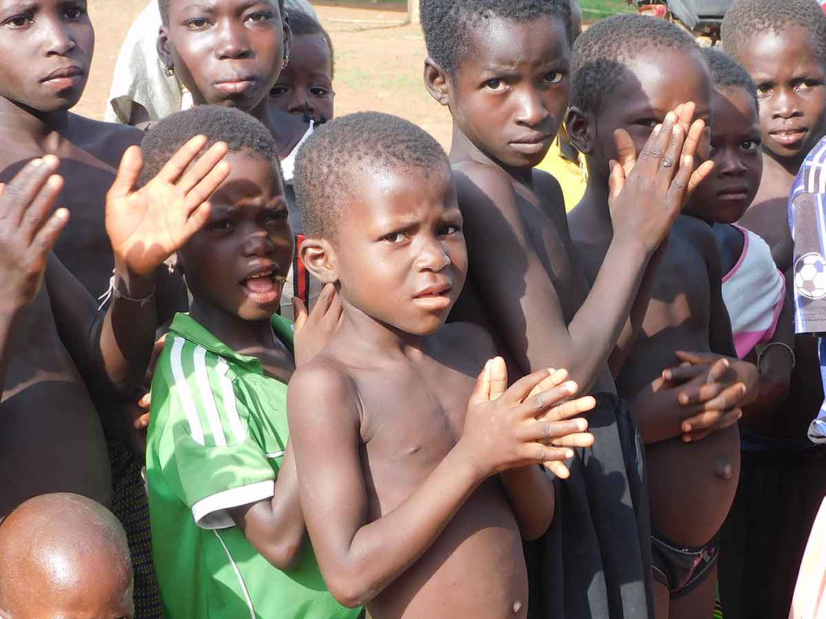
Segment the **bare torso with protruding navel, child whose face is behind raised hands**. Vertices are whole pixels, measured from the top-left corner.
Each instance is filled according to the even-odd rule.
[[[582,211],[577,216],[582,216]],[[597,238],[596,242],[590,237],[579,243],[586,231],[578,222],[572,225],[586,274],[592,278],[605,257],[610,236]],[[698,241],[697,237],[703,235],[707,239]],[[653,283],[642,332],[616,380],[619,395],[624,398],[633,398],[664,369],[676,365],[675,351],[710,352],[713,309],[704,247],[716,251],[710,227],[699,220],[678,217]],[[729,513],[737,489],[737,426],[697,442],[686,443],[674,437],[649,443],[646,459],[652,529],[686,546],[703,546],[710,541]],[[728,479],[718,475],[725,465],[731,465]]]

